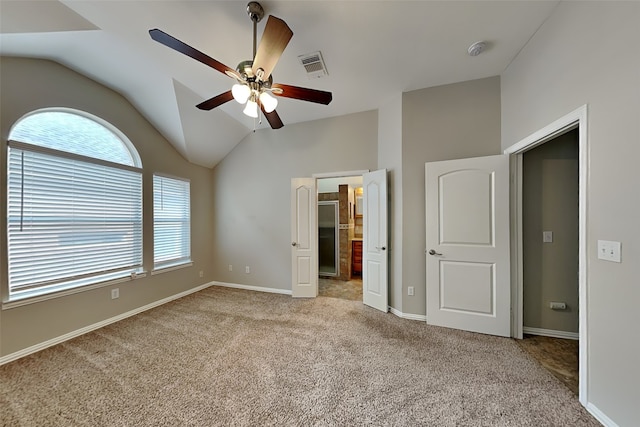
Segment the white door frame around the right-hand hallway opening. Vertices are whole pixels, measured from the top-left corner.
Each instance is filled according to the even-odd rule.
[[[578,400],[587,404],[588,322],[587,322],[587,184],[588,138],[587,105],[575,109],[553,123],[534,132],[504,150],[511,167],[511,330],[514,338],[522,339],[523,327],[523,247],[522,247],[522,155],[570,130],[578,129]]]

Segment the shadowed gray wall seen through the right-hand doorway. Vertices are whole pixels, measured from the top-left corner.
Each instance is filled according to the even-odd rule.
[[[523,326],[578,332],[578,131],[522,157]]]

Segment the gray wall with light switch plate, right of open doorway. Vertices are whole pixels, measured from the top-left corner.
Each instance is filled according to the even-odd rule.
[[[638,2],[561,2],[502,75],[503,148],[587,104],[586,398],[619,426],[640,419],[639,22]]]

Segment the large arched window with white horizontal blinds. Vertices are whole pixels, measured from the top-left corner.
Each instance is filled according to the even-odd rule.
[[[9,299],[142,271],[142,164],[106,121],[32,112],[9,133]]]

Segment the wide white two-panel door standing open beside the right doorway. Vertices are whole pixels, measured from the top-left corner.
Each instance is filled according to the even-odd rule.
[[[509,159],[425,164],[427,322],[510,336]]]

